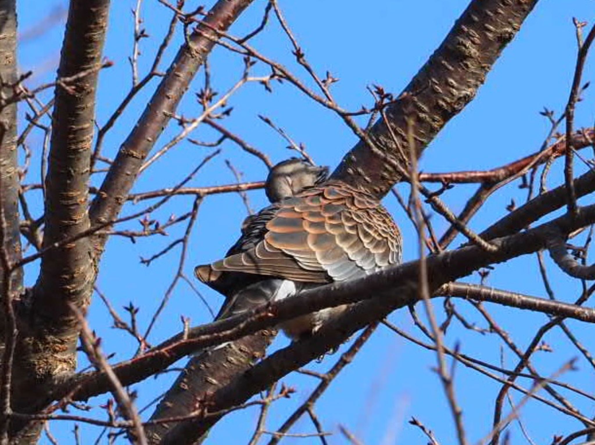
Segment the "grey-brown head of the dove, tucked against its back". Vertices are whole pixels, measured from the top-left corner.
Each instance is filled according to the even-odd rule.
[[[327,180],[328,167],[317,167],[292,157],[275,165],[268,173],[265,192],[271,203],[290,198]]]

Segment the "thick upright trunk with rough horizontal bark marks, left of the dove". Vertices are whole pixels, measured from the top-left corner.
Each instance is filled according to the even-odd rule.
[[[90,153],[108,10],[109,0],[70,2],[58,78],[87,74],[68,81],[66,87],[58,83],[55,89],[43,247],[90,227]],[[81,238],[42,257],[31,310],[20,326],[13,390],[17,411],[35,409],[40,394],[76,367],[80,329],[70,305],[84,312],[89,304],[95,280],[91,254],[89,239]]]

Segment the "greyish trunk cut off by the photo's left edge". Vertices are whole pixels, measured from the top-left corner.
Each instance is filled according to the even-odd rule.
[[[10,97],[10,84],[17,81],[17,13],[15,0],[0,1],[0,78],[2,97]],[[0,206],[5,226],[2,228],[4,245],[0,246],[14,263],[21,258],[21,241],[18,217],[18,162],[17,162],[17,105],[11,103],[0,109]],[[4,288],[4,273],[0,265],[0,289]],[[11,275],[13,295],[23,291],[23,272]],[[4,297],[4,295],[3,295]],[[1,310],[0,310],[1,311]]]

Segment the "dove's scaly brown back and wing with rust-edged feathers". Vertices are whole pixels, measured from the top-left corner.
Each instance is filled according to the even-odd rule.
[[[342,182],[267,207],[243,233],[226,258],[197,268],[199,279],[230,271],[326,283],[373,273],[401,257],[399,229],[389,213]]]

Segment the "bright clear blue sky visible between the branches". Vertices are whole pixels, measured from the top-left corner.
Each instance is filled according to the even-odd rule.
[[[196,6],[195,2],[188,3],[188,8]],[[127,57],[132,48],[133,17],[130,10],[134,4],[136,1],[117,0],[112,5],[105,56],[115,65],[101,72],[97,108],[100,125],[105,123],[130,87],[130,65]],[[371,84],[379,84],[386,90],[399,93],[437,48],[467,4],[467,1],[462,0],[378,0],[365,4],[340,0],[280,1],[287,21],[312,67],[319,75],[323,76],[329,70],[334,77],[340,79],[334,84],[333,93],[338,102],[348,109],[371,105],[371,97],[366,90]],[[242,36],[252,30],[259,23],[265,5],[264,1],[255,1],[234,24],[231,33]],[[20,30],[24,39],[18,58],[21,70],[35,71],[29,83],[32,86],[54,78],[63,33],[63,18],[52,26],[47,23],[40,26],[40,17],[66,7],[64,1],[19,2]],[[170,14],[156,0],[145,0],[142,17],[150,34],[148,39],[141,42],[143,53],[139,67],[144,74],[152,63],[156,46],[168,26]],[[474,102],[456,116],[426,150],[420,163],[422,171],[489,169],[538,150],[549,131],[549,123],[539,112],[546,106],[559,115],[568,99],[576,53],[572,17],[592,23],[595,19],[593,3],[590,0],[566,0],[542,1],[537,5],[518,36],[488,74],[486,84],[480,89]],[[27,32],[39,29],[45,30],[40,36],[27,37],[30,36]],[[162,70],[165,70],[173,58],[181,39],[178,29],[173,44],[165,53]],[[270,58],[286,64],[306,83],[312,84],[306,72],[295,64],[289,42],[273,18],[267,30],[259,34],[252,45]],[[220,94],[241,76],[241,58],[223,48],[216,48],[212,52],[209,64],[212,84]],[[254,69],[255,74],[267,72],[264,66],[256,65]],[[589,80],[592,74],[593,62],[589,59],[584,79]],[[198,116],[201,112],[194,93],[201,89],[202,82],[201,72],[180,106],[179,111],[184,116]],[[108,134],[104,143],[105,156],[115,156],[155,86],[156,81],[152,81],[136,97]],[[295,87],[284,83],[273,84],[273,88],[274,92],[271,94],[258,84],[243,87],[228,103],[233,106],[233,112],[224,121],[225,125],[267,153],[275,162],[292,156],[294,153],[285,148],[286,143],[258,118],[259,114],[266,115],[294,140],[304,143],[317,163],[334,168],[343,154],[355,144],[356,139],[352,132],[333,112],[321,108]],[[47,99],[49,96],[46,94],[43,97]],[[584,99],[577,110],[577,127],[587,127],[593,123],[590,89],[586,91]],[[178,131],[179,127],[170,125],[156,147],[164,146]],[[193,132],[192,137],[213,140],[216,135],[209,128],[201,126]],[[39,133],[34,134],[30,140],[30,148],[37,159],[41,141],[42,134]],[[243,172],[246,180],[264,179],[264,164],[243,153],[233,143],[226,141],[221,147],[223,153],[212,160],[189,185],[234,182],[233,175],[224,163],[226,159],[230,159]],[[155,190],[176,184],[211,151],[189,143],[179,144],[143,173],[134,191]],[[585,151],[584,156],[588,157],[590,154]],[[577,170],[584,171],[580,166]],[[556,163],[548,182],[550,188],[560,184],[560,171],[560,163]],[[30,175],[30,181],[38,181],[36,168]],[[96,185],[100,184],[101,177],[95,178],[94,182]],[[505,206],[511,198],[516,203],[522,203],[526,191],[519,190],[517,185],[509,185],[491,197],[484,209],[472,220],[471,227],[480,231],[505,214]],[[402,190],[406,191],[406,188],[402,187]],[[457,212],[474,190],[475,186],[456,187],[444,195],[444,200]],[[259,209],[266,203],[262,191],[249,192],[249,197],[252,209]],[[32,195],[32,200],[35,199],[37,204],[33,207],[39,212],[39,196]],[[585,198],[585,202],[590,202],[590,198]],[[172,213],[179,215],[186,212],[191,203],[192,198],[175,198],[168,206],[152,214],[152,217],[164,221]],[[417,251],[411,223],[392,197],[387,197],[384,204],[402,227],[405,259],[415,259]],[[140,205],[129,206],[124,214],[134,213],[139,209],[142,209]],[[205,199],[191,237],[185,267],[188,276],[192,276],[192,269],[196,264],[215,260],[225,253],[237,237],[240,223],[245,216],[246,209],[237,194]],[[433,223],[439,233],[447,226],[437,216],[434,216]],[[140,226],[133,222],[127,228],[138,230]],[[184,226],[180,225],[168,231],[170,235],[167,238],[139,239],[136,244],[131,244],[126,239],[114,239],[108,244],[98,279],[99,288],[109,296],[118,310],[130,301],[139,306],[139,323],[144,327],[151,320],[152,313],[176,273],[179,251],[174,250],[156,260],[151,267],[140,264],[139,257],[149,257],[156,253],[179,237],[183,230]],[[455,241],[453,247],[461,241]],[[37,267],[37,264],[33,264],[27,270],[29,284],[35,282]],[[556,295],[560,299],[572,301],[577,297],[580,288],[574,280],[557,273],[551,264],[550,273]],[[478,276],[471,277],[469,281],[478,282]],[[534,257],[518,258],[499,266],[490,274],[488,284],[545,296]],[[201,287],[200,291],[215,308],[222,301],[209,289]],[[482,327],[486,326],[471,307],[464,302],[455,303],[462,313],[468,315],[469,320]],[[440,313],[441,301],[437,300],[435,307]],[[419,310],[422,311],[421,308]],[[493,305],[490,306],[490,311],[520,348],[527,346],[532,333],[547,320],[544,315]],[[123,311],[120,312],[124,315]],[[208,311],[184,283],[177,286],[149,340],[158,343],[178,332],[181,327],[180,315],[192,318],[193,324],[209,321]],[[393,314],[391,320],[421,338],[421,333],[412,326],[411,317],[405,311]],[[104,339],[104,350],[116,354],[113,361],[129,358],[134,353],[134,340],[111,329],[107,311],[97,298],[90,309],[89,323]],[[568,324],[585,345],[593,346],[591,326],[573,322]],[[280,336],[275,345],[284,346],[287,341]],[[559,330],[548,334],[546,341],[555,350],[555,354],[539,352],[534,355],[533,360],[542,375],[553,373],[563,362],[577,356],[576,349],[572,348]],[[494,335],[472,333],[454,323],[447,333],[446,342],[450,346],[461,342],[462,352],[494,364],[500,363],[500,341]],[[327,356],[321,364],[313,364],[312,368],[325,370],[338,358],[339,354]],[[502,360],[507,368],[515,364],[515,358],[508,349],[505,349]],[[179,365],[181,364],[183,361]],[[433,352],[424,351],[380,328],[317,404],[317,414],[322,419],[325,430],[334,433],[330,442],[345,443],[337,430],[337,425],[343,424],[367,444],[425,443],[420,431],[406,422],[411,416],[415,416],[434,431],[440,443],[454,443],[452,416],[447,411],[446,399],[433,371],[435,364]],[[578,368],[579,371],[565,375],[565,378],[593,392],[593,369],[584,361],[578,362]],[[140,393],[139,406],[167,389],[174,374],[169,373],[156,380],[149,379],[135,386]],[[303,375],[292,375],[283,381],[295,387],[297,392],[291,399],[275,404],[269,417],[269,430],[280,426],[318,383]],[[525,387],[530,386],[527,381],[521,382]],[[466,370],[462,365],[457,366],[455,385],[469,438],[472,442],[477,441],[490,430],[493,400],[499,386],[474,371]],[[513,397],[515,402],[520,399],[518,393],[513,393]],[[93,399],[90,403],[98,405],[102,400],[104,399]],[[584,399],[576,403],[587,414],[593,414],[593,403],[585,402]],[[212,430],[211,443],[247,443],[257,415],[258,412],[252,409],[227,416]],[[521,416],[536,443],[549,443],[555,433],[563,434],[573,431],[572,428],[580,428],[578,422],[569,420],[539,402],[529,402]],[[71,424],[52,424],[52,432],[61,443],[74,443],[71,429]],[[302,419],[292,431],[312,432],[313,427],[309,421]],[[95,427],[83,427],[83,443],[93,443],[98,433],[99,430]],[[524,443],[516,425],[511,428],[511,433],[512,443]],[[314,438],[286,439],[288,444],[317,441]]]

